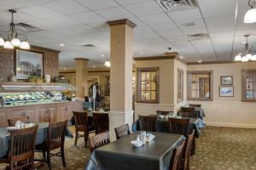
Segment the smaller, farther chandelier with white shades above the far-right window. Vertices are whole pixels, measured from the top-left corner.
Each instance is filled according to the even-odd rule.
[[[249,44],[248,44],[249,35],[245,35],[244,37],[247,38],[247,41],[245,43],[245,52],[237,54],[236,57],[235,57],[235,61],[243,61],[243,62],[246,62],[246,61],[249,61],[249,60],[256,61],[256,54],[250,54],[249,53],[250,52]]]

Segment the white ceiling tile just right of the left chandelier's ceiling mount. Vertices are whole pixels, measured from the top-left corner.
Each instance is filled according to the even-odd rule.
[[[31,14],[41,19],[47,19],[52,17],[60,17],[61,14],[55,12],[54,10],[44,6],[44,5],[36,5],[32,7],[20,8],[20,11]]]

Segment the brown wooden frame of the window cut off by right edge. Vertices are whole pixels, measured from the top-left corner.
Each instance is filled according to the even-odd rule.
[[[248,102],[255,102],[256,98],[254,99],[247,99],[247,73],[253,72],[256,75],[256,69],[247,69],[241,70],[241,101],[248,101]],[[256,82],[255,82],[256,83]]]

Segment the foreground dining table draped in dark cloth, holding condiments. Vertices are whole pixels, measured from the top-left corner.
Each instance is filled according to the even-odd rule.
[[[172,151],[182,144],[183,135],[148,132],[155,136],[141,147],[131,144],[141,132],[131,133],[94,150],[84,170],[168,170]]]

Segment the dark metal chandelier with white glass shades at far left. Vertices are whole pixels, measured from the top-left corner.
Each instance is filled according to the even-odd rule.
[[[9,31],[6,32],[5,39],[3,37],[0,37],[0,46],[3,46],[3,48],[8,49],[30,49],[30,44],[26,42],[27,37],[23,34],[19,34],[15,30],[14,14],[16,13],[16,11],[14,9],[9,9],[9,12],[12,14],[12,19],[11,22],[9,23]]]

